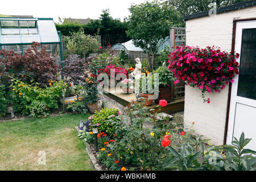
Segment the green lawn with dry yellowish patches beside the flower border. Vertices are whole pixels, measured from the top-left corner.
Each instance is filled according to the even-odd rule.
[[[88,115],[0,123],[0,170],[94,170],[75,126]],[[46,165],[38,164],[39,151]]]

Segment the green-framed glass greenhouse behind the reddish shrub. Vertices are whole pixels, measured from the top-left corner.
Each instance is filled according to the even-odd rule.
[[[32,42],[46,46],[46,52],[60,64],[61,35],[52,18],[0,18],[0,48],[23,54]]]

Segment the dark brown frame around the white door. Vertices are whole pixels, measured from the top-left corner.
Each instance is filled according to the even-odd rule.
[[[232,36],[232,51],[235,51],[236,46],[236,32],[237,32],[237,23],[238,22],[250,22],[256,20],[256,18],[246,18],[246,19],[234,19],[233,20],[233,36]],[[228,92],[228,105],[226,110],[226,124],[225,124],[225,132],[224,132],[224,143],[227,143],[228,140],[228,129],[229,129],[229,114],[230,114],[230,102],[232,95],[232,83],[229,82],[229,92]]]

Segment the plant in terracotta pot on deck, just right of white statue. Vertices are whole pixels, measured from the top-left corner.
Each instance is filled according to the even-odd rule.
[[[151,100],[148,96],[154,95],[154,75],[142,75],[142,77],[139,78],[139,92],[141,94],[141,97],[146,98],[145,104],[147,106],[151,106],[153,100]]]

